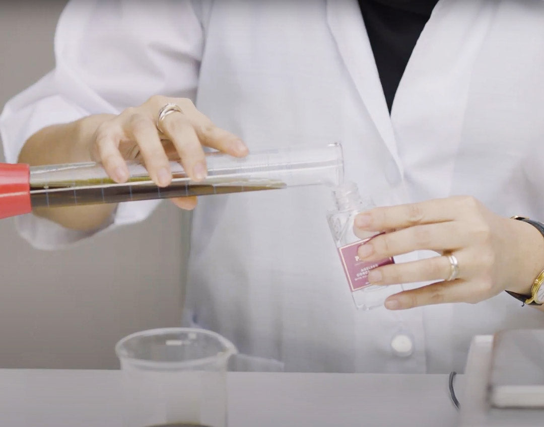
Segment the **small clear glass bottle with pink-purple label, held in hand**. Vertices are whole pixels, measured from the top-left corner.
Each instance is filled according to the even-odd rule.
[[[346,182],[333,189],[336,210],[327,214],[332,236],[338,248],[344,273],[348,279],[355,306],[362,310],[370,310],[384,305],[385,299],[393,293],[400,292],[400,286],[376,286],[368,283],[368,272],[375,267],[394,263],[393,258],[380,261],[362,261],[357,256],[357,249],[380,233],[369,232],[363,239],[355,236],[353,231],[355,216],[359,212],[368,211],[375,205],[372,199],[361,199],[357,185]]]

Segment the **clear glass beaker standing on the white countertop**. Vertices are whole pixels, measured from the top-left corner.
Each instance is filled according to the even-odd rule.
[[[191,328],[137,332],[115,346],[126,427],[227,426],[226,370],[236,347]]]

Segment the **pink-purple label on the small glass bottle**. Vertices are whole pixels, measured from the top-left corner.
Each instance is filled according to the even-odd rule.
[[[372,236],[375,237],[375,236]],[[393,258],[381,259],[380,261],[361,261],[357,255],[357,249],[372,239],[360,240],[359,242],[351,243],[338,248],[338,254],[342,260],[345,276],[348,278],[351,292],[369,286],[368,272],[376,267],[381,267],[386,264],[393,264]]]

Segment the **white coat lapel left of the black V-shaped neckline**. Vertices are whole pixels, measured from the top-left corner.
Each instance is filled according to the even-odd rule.
[[[400,169],[391,117],[357,1],[327,0],[327,21],[355,88]]]

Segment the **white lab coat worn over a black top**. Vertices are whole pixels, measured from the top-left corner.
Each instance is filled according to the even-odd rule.
[[[347,178],[379,205],[471,194],[498,214],[544,219],[544,2],[441,0],[391,117],[356,0],[71,2],[55,55],[56,69],[4,109],[9,162],[50,123],[188,96],[251,150],[342,141]],[[120,205],[106,230],[156,203]],[[462,371],[473,335],[544,327],[544,313],[504,293],[356,311],[325,221],[331,203],[317,187],[202,197],[184,323],[286,370],[390,373]],[[33,215],[17,227],[44,248],[89,234]],[[410,357],[392,349],[400,330]]]

